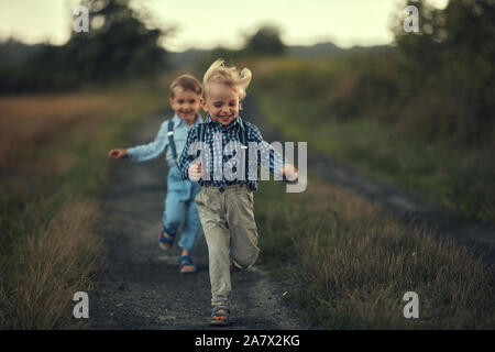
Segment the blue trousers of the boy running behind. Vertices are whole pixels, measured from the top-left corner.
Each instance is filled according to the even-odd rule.
[[[163,216],[164,231],[175,235],[184,224],[178,245],[189,252],[193,252],[201,233],[201,222],[195,204],[195,197],[200,190],[201,186],[198,183],[183,179],[177,166],[170,167]]]

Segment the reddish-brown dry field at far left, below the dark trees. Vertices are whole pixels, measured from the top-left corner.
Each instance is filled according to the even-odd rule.
[[[68,94],[0,98],[0,169],[19,165],[34,148],[75,131],[98,124],[132,100],[118,96]]]

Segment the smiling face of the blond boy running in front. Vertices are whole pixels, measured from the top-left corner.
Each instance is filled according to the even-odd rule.
[[[239,116],[239,90],[218,82],[210,82],[206,88],[202,109],[220,124],[230,124]]]

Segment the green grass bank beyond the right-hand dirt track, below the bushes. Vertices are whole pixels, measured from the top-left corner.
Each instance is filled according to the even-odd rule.
[[[293,141],[402,185],[466,219],[495,220],[495,163],[477,150],[426,143],[373,120],[342,122],[314,101],[258,89],[263,116]]]

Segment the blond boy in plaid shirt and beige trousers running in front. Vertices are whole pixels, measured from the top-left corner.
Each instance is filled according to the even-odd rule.
[[[202,186],[196,205],[208,245],[213,307],[210,324],[229,324],[231,265],[249,268],[257,260],[260,250],[253,190],[260,182],[258,157],[270,155],[268,168],[275,175],[289,180],[297,178],[296,168],[273,153],[260,130],[239,116],[240,101],[245,97],[250,80],[248,68],[238,72],[235,67],[227,67],[221,59],[209,67],[204,78],[201,100],[208,116],[202,127],[190,129],[179,160],[183,177],[199,180]],[[196,146],[201,144],[204,152],[197,158]],[[232,145],[238,145],[235,156],[239,157],[243,148],[246,151],[245,146],[249,145],[249,151],[256,148],[255,163],[251,163],[251,158],[248,167],[244,166],[246,158],[232,163],[233,156],[228,158],[229,155],[233,155]],[[242,169],[240,174],[238,168]]]

